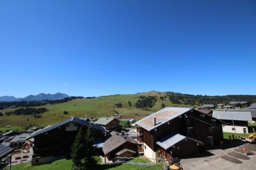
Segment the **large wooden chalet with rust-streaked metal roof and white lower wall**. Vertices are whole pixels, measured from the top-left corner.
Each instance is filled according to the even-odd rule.
[[[135,122],[144,156],[158,158],[191,155],[200,146],[219,145],[223,122],[192,108],[167,107]]]

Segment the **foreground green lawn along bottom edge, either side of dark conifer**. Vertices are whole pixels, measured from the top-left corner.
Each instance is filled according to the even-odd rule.
[[[95,156],[97,160],[97,165],[92,170],[103,170],[103,169],[111,169],[111,170],[161,170],[163,168],[163,165],[152,165],[152,166],[141,166],[141,165],[128,165],[128,164],[100,164],[101,160],[99,156]],[[56,160],[55,162],[51,164],[44,164],[44,165],[36,165],[31,166],[30,163],[23,163],[18,165],[13,165],[12,169],[14,170],[48,170],[48,169],[54,169],[54,170],[70,170],[72,168],[72,160],[69,159],[61,159]]]

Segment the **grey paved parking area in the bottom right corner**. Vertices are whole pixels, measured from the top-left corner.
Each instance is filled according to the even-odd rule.
[[[243,154],[243,146],[250,152]],[[181,159],[184,170],[189,169],[256,169],[256,145],[244,143],[236,147],[215,148],[205,153]]]

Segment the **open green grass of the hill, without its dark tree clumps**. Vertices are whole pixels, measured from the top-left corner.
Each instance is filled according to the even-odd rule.
[[[140,116],[134,116],[134,113],[143,115],[145,113],[152,113],[161,109],[162,103],[165,103],[166,106],[178,106],[170,103],[168,97],[166,101],[162,101],[159,97],[165,95],[165,92],[159,94],[159,92],[151,91],[147,93],[139,93],[133,95],[110,95],[110,96],[101,96],[94,99],[76,99],[69,101],[63,104],[53,104],[45,105],[49,111],[42,113],[42,118],[34,118],[32,115],[29,116],[2,116],[0,117],[0,127],[11,125],[22,127],[24,125],[36,124],[39,126],[47,126],[55,124],[56,122],[63,121],[71,116],[75,117],[104,117],[111,116],[114,114],[112,109],[114,104],[122,103],[123,108],[116,109],[119,113],[125,114],[124,117],[129,118],[141,118]],[[139,99],[139,96],[149,96],[157,95],[158,101],[151,108],[151,111],[143,111],[142,109],[137,109],[134,107],[134,104]],[[131,101],[132,106],[130,107],[128,101]],[[183,107],[184,105],[179,105]],[[5,113],[14,109],[6,109],[1,112]],[[69,114],[63,115],[63,111],[68,111]]]

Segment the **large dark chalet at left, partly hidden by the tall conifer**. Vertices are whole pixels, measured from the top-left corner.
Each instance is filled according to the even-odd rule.
[[[102,141],[97,139],[104,138],[106,132],[108,132],[101,125],[76,117],[36,131],[27,138],[28,140],[34,138],[34,155],[31,164],[44,164],[65,158],[71,152],[71,146],[75,141],[78,130],[81,128],[86,133],[89,126],[94,130],[95,141]],[[99,143],[95,144],[98,145]]]

